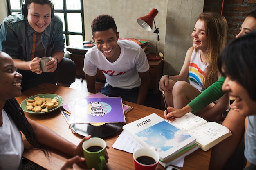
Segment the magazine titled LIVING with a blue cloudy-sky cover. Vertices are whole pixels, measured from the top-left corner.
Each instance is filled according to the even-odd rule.
[[[196,138],[173,126],[155,113],[123,126],[146,148],[154,148],[164,161],[195,144]]]

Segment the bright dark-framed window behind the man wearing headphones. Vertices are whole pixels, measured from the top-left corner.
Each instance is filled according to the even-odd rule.
[[[63,22],[65,45],[85,41],[83,0],[52,0],[54,13]],[[7,0],[9,15],[20,13],[22,0]],[[20,4],[20,5],[19,5]]]

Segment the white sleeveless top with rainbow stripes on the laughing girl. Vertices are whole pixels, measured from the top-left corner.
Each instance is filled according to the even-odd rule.
[[[189,64],[189,83],[200,92],[205,89],[202,80],[204,79],[206,68],[206,63],[201,61],[200,52],[194,49]]]

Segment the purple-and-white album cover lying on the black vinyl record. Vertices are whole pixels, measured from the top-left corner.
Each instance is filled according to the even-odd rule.
[[[125,122],[121,97],[76,98],[69,124]]]

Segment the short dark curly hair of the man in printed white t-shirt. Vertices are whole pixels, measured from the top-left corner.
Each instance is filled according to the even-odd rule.
[[[99,15],[92,20],[92,35],[96,31],[105,31],[108,29],[113,29],[114,33],[117,34],[117,25],[114,21],[114,18],[110,15]]]

